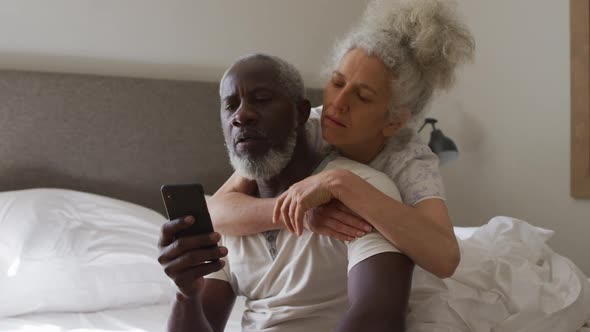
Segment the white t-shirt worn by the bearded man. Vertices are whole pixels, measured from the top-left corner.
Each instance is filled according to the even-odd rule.
[[[347,169],[399,200],[387,175],[367,165],[328,156],[316,172]],[[305,231],[223,236],[225,267],[207,278],[225,280],[245,297],[244,331],[333,331],[348,308],[347,272],[383,252],[399,252],[378,232],[351,242]]]

